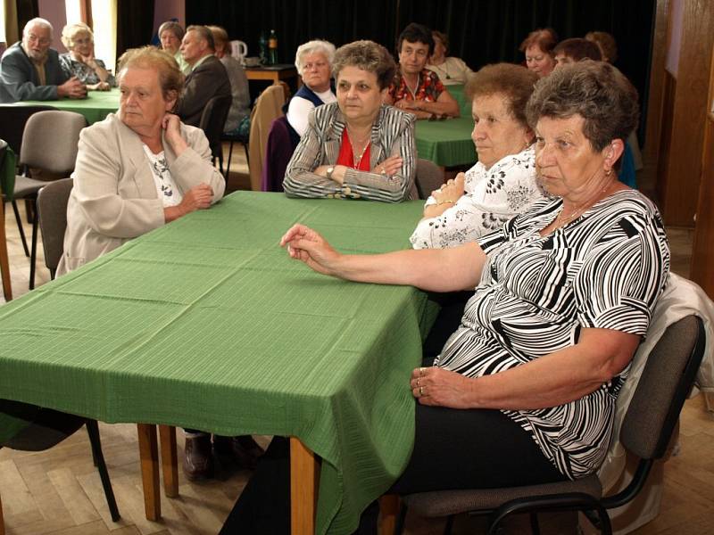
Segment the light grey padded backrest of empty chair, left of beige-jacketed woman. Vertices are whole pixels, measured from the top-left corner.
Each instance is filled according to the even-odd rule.
[[[37,111],[22,134],[20,163],[66,177],[77,160],[79,132],[87,119],[74,111]]]

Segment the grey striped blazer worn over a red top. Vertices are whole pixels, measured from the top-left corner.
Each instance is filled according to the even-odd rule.
[[[330,197],[401,202],[416,199],[413,187],[416,169],[414,121],[411,113],[383,105],[372,125],[369,167],[388,157],[402,157],[402,169],[392,177],[347,169],[343,185],[313,173],[320,165],[334,165],[340,152],[345,116],[337,103],[310,112],[308,128],[287,164],[283,189],[288,197]]]

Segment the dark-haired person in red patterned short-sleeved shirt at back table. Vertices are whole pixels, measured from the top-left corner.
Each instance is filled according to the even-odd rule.
[[[384,103],[408,111],[417,119],[459,117],[459,103],[444,88],[436,72],[426,69],[434,53],[431,30],[412,22],[400,34],[396,47],[399,69]]]

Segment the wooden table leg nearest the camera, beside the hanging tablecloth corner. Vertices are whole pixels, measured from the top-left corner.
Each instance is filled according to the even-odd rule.
[[[315,454],[300,439],[290,437],[290,532],[315,532],[315,506],[320,473]]]

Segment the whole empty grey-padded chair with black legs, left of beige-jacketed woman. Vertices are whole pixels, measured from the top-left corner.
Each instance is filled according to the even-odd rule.
[[[32,249],[29,255],[29,289],[35,287],[35,264],[37,259],[37,192],[47,185],[46,180],[29,177],[29,169],[41,169],[55,177],[69,177],[77,160],[79,132],[87,126],[84,116],[73,111],[37,111],[31,115],[22,134],[20,164],[23,168],[21,176],[15,177],[15,187],[12,197],[12,208],[21,228],[17,215],[17,199],[25,199],[31,203],[32,217]],[[27,254],[27,251],[26,251]]]

